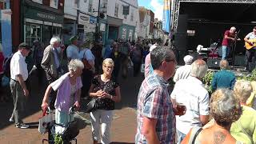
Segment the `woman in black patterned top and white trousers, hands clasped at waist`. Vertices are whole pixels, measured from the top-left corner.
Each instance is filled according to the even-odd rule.
[[[111,77],[113,69],[114,61],[111,58],[106,58],[102,62],[103,74],[95,76],[90,86],[90,97],[98,98],[97,110],[90,112],[94,144],[98,143],[100,138],[102,138],[102,144],[110,143],[114,102],[121,101],[120,86]],[[100,130],[102,131],[101,136],[99,135]]]

